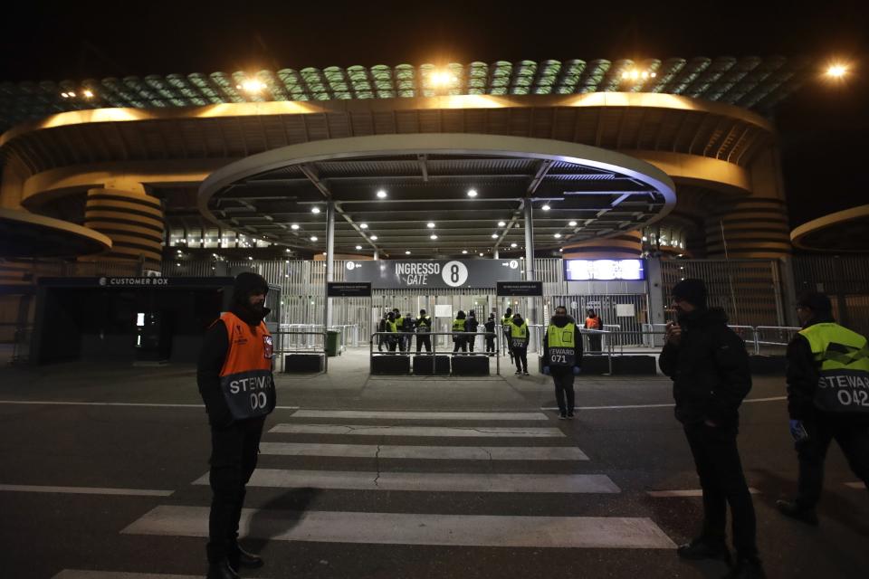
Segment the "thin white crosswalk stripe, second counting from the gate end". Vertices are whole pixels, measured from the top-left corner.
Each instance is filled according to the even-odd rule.
[[[269,432],[281,434],[351,434],[357,436],[434,436],[469,438],[564,438],[564,432],[551,427],[494,426],[381,426],[368,424],[277,424]]]

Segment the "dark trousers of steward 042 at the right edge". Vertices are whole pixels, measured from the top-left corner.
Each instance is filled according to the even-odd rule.
[[[848,465],[869,489],[869,425],[855,425],[823,415],[803,422],[808,433],[805,441],[797,442],[799,480],[797,505],[815,508],[824,487],[824,460],[830,442],[836,439]]]

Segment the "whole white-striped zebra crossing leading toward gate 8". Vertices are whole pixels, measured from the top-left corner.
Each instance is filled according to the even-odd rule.
[[[622,492],[553,423],[540,412],[295,411],[263,433],[260,466],[248,485],[249,508],[242,512],[240,534],[324,544],[673,549],[673,541],[649,517],[609,511],[606,516],[585,516],[600,511],[584,513],[582,508],[573,512],[583,516],[565,516],[560,509],[540,506],[549,504],[542,502],[548,496],[555,502],[567,497],[593,504]],[[206,537],[207,485],[206,472],[180,498],[177,492],[175,500],[162,500],[120,533]],[[354,503],[356,510],[330,510],[328,501],[326,508],[256,508],[263,503],[256,500],[258,494],[276,489],[316,489],[320,497],[362,495]],[[425,493],[425,512],[402,512],[406,501],[399,498],[412,493]],[[371,496],[377,499],[366,502]],[[474,498],[483,507],[456,512],[450,505],[459,497]],[[490,500],[502,505],[505,498],[525,501],[533,506],[525,510],[533,512],[515,508],[492,514],[503,509]],[[151,576],[68,569],[55,579]]]

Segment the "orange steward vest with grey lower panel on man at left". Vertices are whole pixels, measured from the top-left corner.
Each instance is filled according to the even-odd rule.
[[[220,317],[229,337],[220,370],[220,387],[235,420],[265,416],[274,410],[272,334],[265,322],[251,327],[232,312]]]

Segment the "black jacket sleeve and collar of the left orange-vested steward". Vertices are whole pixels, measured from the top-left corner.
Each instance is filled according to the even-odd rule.
[[[245,298],[246,296],[236,295],[234,305],[230,310],[251,326],[259,326],[271,310],[263,308],[263,312],[253,312],[244,307],[243,300]],[[233,415],[229,411],[229,406],[226,405],[224,392],[220,387],[220,371],[224,367],[228,351],[229,335],[226,332],[226,325],[217,319],[205,331],[202,350],[199,352],[199,362],[196,365],[196,385],[199,387],[199,394],[205,403],[208,422],[215,428],[224,428],[233,423]]]

